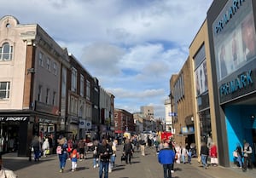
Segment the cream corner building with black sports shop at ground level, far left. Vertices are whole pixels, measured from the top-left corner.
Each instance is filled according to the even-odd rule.
[[[0,20],[0,151],[15,141],[18,155],[26,155],[33,135],[48,135],[55,145],[61,69],[68,67],[67,50],[40,26],[20,25],[13,16]]]

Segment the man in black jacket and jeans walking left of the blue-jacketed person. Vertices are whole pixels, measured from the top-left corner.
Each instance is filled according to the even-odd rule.
[[[104,178],[108,178],[109,159],[113,154],[112,148],[108,145],[107,140],[103,139],[102,144],[98,148],[98,155],[100,159],[99,177],[102,178],[104,170]]]

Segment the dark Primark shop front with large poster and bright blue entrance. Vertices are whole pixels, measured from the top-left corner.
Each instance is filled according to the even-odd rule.
[[[253,4],[254,3],[254,4]],[[256,150],[255,2],[214,1],[207,13],[215,71],[216,124],[220,164],[233,165],[232,152],[245,142]],[[216,76],[216,77],[215,77]]]

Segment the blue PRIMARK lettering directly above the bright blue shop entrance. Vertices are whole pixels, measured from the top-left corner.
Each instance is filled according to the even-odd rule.
[[[252,79],[252,71],[242,73],[239,77],[235,78],[234,80],[224,83],[220,86],[220,94],[229,95],[231,93],[236,92],[238,89],[244,89],[249,84],[253,83]]]

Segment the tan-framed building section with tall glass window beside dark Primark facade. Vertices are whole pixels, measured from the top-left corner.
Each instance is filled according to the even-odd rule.
[[[195,141],[199,154],[201,142],[207,143],[212,140],[217,143],[207,20],[203,22],[189,46],[189,60],[194,81],[191,83],[193,94],[191,107],[194,110]]]

